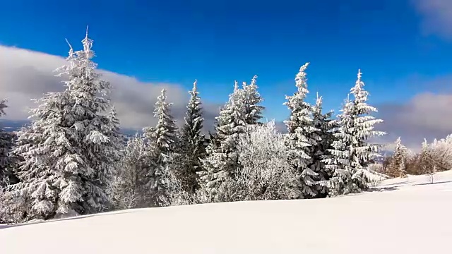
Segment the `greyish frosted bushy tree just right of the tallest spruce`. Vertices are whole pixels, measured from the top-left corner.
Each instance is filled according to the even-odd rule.
[[[152,203],[150,175],[155,169],[142,136],[129,138],[109,193],[115,209],[149,207]]]

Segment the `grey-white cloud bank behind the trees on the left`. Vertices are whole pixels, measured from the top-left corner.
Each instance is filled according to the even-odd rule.
[[[5,119],[22,120],[29,116],[31,101],[44,92],[63,90],[54,69],[64,64],[60,56],[52,56],[26,49],[0,46],[0,97],[8,99]],[[188,91],[177,84],[143,83],[126,75],[102,71],[103,78],[112,83],[112,102],[115,104],[123,128],[142,128],[155,124],[153,107],[162,88],[173,102],[172,112],[179,123],[183,119]],[[202,91],[201,91],[202,92]],[[201,93],[202,95],[202,93]],[[204,105],[206,126],[213,124],[218,114],[217,104]]]

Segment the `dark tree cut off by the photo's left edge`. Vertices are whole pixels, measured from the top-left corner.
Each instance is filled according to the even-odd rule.
[[[0,117],[6,114],[6,99],[0,100]],[[0,188],[4,184],[15,183],[16,176],[13,174],[15,159],[9,154],[14,145],[14,133],[5,131],[0,126]]]

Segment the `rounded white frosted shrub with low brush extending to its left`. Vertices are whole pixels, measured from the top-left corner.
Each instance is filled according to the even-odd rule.
[[[284,136],[273,121],[251,125],[239,139],[242,167],[218,183],[215,192],[201,188],[194,194],[182,191],[181,183],[167,171],[167,197],[161,205],[189,205],[207,202],[281,200],[299,196],[299,174],[288,164]]]

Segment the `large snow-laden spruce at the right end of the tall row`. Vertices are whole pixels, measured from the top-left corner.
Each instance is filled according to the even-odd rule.
[[[361,75],[358,71],[355,87],[350,90],[354,99],[347,99],[338,115],[339,128],[334,134],[337,140],[332,144],[333,149],[329,150],[333,157],[325,159],[327,167],[334,171],[328,181],[328,195],[358,193],[369,188],[370,181],[381,178],[367,169],[373,159],[380,157],[381,145],[368,143],[367,140],[385,134],[374,130],[374,125],[383,120],[370,115],[377,110],[367,104],[369,92],[364,90]]]

